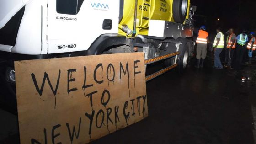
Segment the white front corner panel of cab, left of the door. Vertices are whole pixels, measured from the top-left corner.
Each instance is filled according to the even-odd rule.
[[[41,54],[41,1],[27,3],[12,53]]]

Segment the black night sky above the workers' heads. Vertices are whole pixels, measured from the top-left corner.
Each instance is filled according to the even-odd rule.
[[[206,16],[206,22],[203,17],[195,16],[199,19],[196,26],[204,24],[210,31],[216,27],[225,31],[230,27],[236,32],[256,31],[256,0],[191,0],[191,3],[197,6],[197,15]]]

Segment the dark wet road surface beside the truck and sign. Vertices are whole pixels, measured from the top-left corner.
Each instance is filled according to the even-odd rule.
[[[212,69],[211,62],[149,81],[149,117],[92,144],[254,144],[256,86],[235,79],[232,70]],[[0,144],[16,144],[16,117],[0,115]]]

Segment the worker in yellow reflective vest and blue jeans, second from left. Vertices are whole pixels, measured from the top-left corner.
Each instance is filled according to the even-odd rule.
[[[221,64],[219,54],[222,52],[224,48],[224,34],[221,32],[221,28],[218,28],[217,35],[215,37],[213,48],[214,48],[214,68],[215,69],[223,69]]]

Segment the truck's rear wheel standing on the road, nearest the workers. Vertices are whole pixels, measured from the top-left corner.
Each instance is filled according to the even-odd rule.
[[[189,59],[189,49],[188,49],[188,44],[186,44],[183,50],[181,51],[180,60],[178,62],[178,72],[180,74],[184,73],[185,70],[187,69],[188,59]]]

